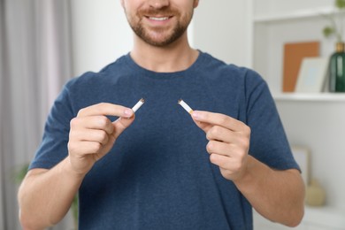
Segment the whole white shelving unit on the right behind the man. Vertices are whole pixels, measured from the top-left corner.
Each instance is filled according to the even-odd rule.
[[[249,63],[269,84],[292,145],[311,149],[311,177],[326,188],[326,207],[306,208],[296,229],[345,229],[345,94],[282,93],[283,47],[286,42],[320,42],[329,57],[334,40],[322,29],[334,13],[331,0],[248,0],[252,36]],[[344,28],[345,30],[345,28]],[[340,164],[340,162],[342,162]],[[255,229],[287,229],[255,215]]]

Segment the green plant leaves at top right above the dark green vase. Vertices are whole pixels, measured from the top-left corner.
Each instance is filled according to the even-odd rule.
[[[336,7],[336,12],[327,15],[326,18],[330,20],[331,25],[327,26],[323,30],[323,34],[326,37],[335,36],[337,42],[343,42],[342,40],[342,27],[343,27],[343,16],[345,15],[345,0],[335,0],[334,5]],[[336,15],[339,15],[339,20],[337,21]]]

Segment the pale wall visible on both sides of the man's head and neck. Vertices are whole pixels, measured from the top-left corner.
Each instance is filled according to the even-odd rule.
[[[247,2],[200,1],[188,30],[191,45],[226,63],[248,65],[249,19],[243,13]],[[74,75],[99,71],[131,50],[132,30],[120,1],[73,0],[71,4]]]

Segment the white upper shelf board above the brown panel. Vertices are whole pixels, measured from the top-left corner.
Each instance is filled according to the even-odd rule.
[[[254,22],[256,23],[269,23],[269,22],[278,22],[282,20],[291,20],[291,19],[309,19],[315,17],[321,17],[330,15],[332,13],[339,13],[334,11],[334,7],[323,7],[319,9],[312,10],[303,10],[289,13],[280,13],[272,15],[257,15],[254,17]]]

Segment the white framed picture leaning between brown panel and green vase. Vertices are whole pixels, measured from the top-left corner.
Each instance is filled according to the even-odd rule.
[[[303,58],[295,92],[319,93],[326,83],[328,58]]]

